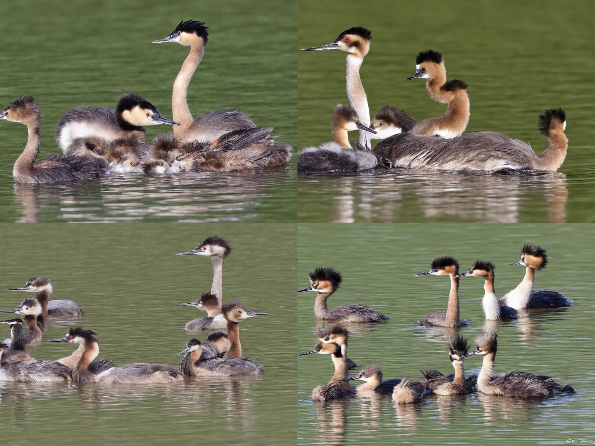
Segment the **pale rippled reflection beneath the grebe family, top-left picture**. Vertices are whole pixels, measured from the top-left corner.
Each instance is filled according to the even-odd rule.
[[[17,222],[39,222],[42,211],[67,221],[245,221],[258,216],[262,203],[291,176],[290,168],[277,168],[233,174],[112,174],[96,181],[14,184]]]

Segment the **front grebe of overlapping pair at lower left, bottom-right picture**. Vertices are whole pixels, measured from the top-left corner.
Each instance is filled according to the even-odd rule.
[[[318,343],[314,346],[314,350],[300,353],[297,356],[312,353],[330,354],[335,368],[333,378],[328,384],[319,385],[312,390],[313,401],[335,400],[355,394],[352,385],[346,381],[349,378],[349,369],[347,369],[347,361],[341,346],[335,343]]]

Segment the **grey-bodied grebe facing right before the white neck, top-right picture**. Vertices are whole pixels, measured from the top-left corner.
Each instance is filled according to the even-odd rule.
[[[358,171],[373,169],[378,164],[378,158],[359,143],[352,149],[349,142],[350,130],[365,130],[376,133],[359,122],[358,115],[352,107],[337,105],[331,118],[333,141],[324,143],[320,147],[305,147],[297,154],[297,170],[304,171]]]

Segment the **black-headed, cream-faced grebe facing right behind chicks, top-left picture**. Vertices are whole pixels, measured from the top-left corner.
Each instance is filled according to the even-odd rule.
[[[139,145],[145,145],[145,126],[157,124],[180,125],[162,117],[148,100],[134,93],[124,93],[118,99],[115,112],[109,107],[83,105],[71,108],[58,121],[54,137],[64,153],[80,153],[79,150],[88,149],[84,141],[93,137],[109,142],[121,138],[134,140],[136,137]],[[89,150],[89,155],[92,153]]]

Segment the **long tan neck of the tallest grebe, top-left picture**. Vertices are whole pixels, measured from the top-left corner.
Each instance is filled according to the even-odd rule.
[[[180,137],[184,131],[190,128],[190,125],[194,122],[190,109],[188,108],[188,102],[186,96],[188,94],[188,85],[196,67],[201,63],[202,55],[205,54],[205,45],[202,40],[195,45],[190,46],[190,52],[186,57],[186,60],[182,64],[180,73],[174,81],[173,93],[171,95],[171,112],[173,120],[180,125],[173,126],[174,136]]]

